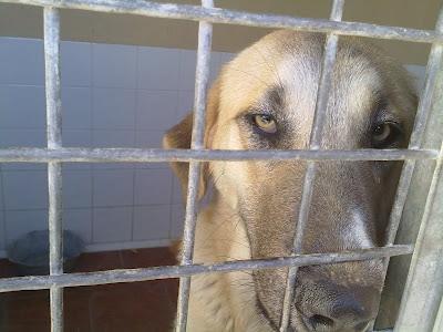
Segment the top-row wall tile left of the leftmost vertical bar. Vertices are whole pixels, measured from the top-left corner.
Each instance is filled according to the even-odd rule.
[[[44,84],[43,41],[0,38],[0,83]]]

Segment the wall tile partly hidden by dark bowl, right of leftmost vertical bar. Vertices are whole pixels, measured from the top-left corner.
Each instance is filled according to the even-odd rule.
[[[92,209],[64,209],[63,228],[80,236],[87,245],[92,241]]]

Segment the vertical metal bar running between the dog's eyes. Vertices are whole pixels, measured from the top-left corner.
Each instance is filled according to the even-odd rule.
[[[343,7],[344,7],[344,0],[333,0],[332,10],[330,14],[330,19],[332,21],[341,21],[343,14]],[[338,48],[338,35],[329,33],[326,39],[321,75],[317,92],[316,112],[313,116],[312,129],[309,142],[310,149],[320,148],[321,132],[326,117],[329,91],[332,85],[331,77],[333,73],[333,64],[336,61],[337,48]],[[293,238],[292,255],[300,253],[302,248],[303,230],[306,228],[305,226],[309,217],[309,209],[312,198],[312,183],[316,177],[316,173],[317,173],[317,164],[315,162],[308,162],[308,167],[303,180],[303,193],[301,196],[298,222]],[[288,271],[282,313],[280,320],[280,332],[287,331],[289,325],[297,271],[298,267],[289,268]]]

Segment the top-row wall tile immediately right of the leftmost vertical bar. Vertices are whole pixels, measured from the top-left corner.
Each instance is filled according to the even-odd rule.
[[[63,86],[90,86],[92,76],[91,43],[62,41],[61,77]]]

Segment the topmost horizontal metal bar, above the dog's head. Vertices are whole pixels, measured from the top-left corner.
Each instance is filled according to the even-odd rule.
[[[126,13],[165,19],[207,21],[213,23],[293,29],[300,31],[333,32],[336,34],[395,39],[413,42],[443,42],[443,35],[435,31],[401,27],[387,27],[362,22],[334,22],[323,19],[295,18],[249,13],[219,8],[156,3],[144,0],[0,0],[0,2],[22,3],[63,9],[81,9],[110,13]]]

